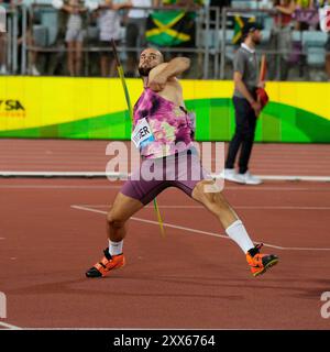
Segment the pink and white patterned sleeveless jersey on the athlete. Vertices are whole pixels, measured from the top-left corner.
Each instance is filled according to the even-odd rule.
[[[194,118],[185,108],[145,88],[134,106],[134,127],[146,119],[153,139],[140,146],[146,158],[156,158],[183,152],[193,146]]]

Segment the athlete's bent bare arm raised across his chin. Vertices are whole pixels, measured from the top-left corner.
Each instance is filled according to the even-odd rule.
[[[169,63],[163,63],[153,68],[148,74],[148,87],[154,91],[161,91],[169,80],[187,70],[190,59],[187,57],[175,57]]]

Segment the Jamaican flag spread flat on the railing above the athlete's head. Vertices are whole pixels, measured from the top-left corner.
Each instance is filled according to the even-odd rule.
[[[195,19],[182,10],[155,11],[146,21],[146,41],[157,46],[183,46],[195,38]]]

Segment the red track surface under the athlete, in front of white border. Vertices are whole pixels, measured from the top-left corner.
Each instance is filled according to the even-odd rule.
[[[330,328],[320,312],[321,294],[330,292],[329,184],[226,185],[252,238],[280,257],[261,277],[218,237],[224,231],[211,215],[167,189],[158,197],[166,239],[153,209],[141,210],[130,220],[128,265],[87,279],[107,245],[106,205],[119,187],[105,179],[0,179],[0,290],[8,299],[0,326]]]

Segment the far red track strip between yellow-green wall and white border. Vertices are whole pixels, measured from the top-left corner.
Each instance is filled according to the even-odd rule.
[[[0,172],[105,172],[109,143],[0,140]],[[330,144],[255,144],[251,170],[256,175],[330,176]]]

